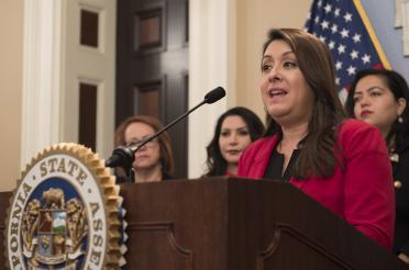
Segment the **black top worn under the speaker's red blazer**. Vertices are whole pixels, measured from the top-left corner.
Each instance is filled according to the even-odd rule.
[[[278,153],[277,146],[272,151],[272,156],[269,157],[268,166],[267,166],[266,172],[264,173],[264,178],[272,179],[272,180],[281,180],[281,181],[287,182],[294,176],[294,170],[296,168],[296,161],[298,159],[300,150],[294,149],[290,160],[287,165],[286,171],[281,175],[283,164],[284,164],[284,154]]]

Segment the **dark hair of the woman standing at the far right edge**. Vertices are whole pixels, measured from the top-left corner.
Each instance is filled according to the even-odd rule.
[[[389,133],[387,134],[385,140],[388,146],[390,146],[391,138],[395,138],[395,148],[399,149],[401,142],[409,136],[409,89],[408,83],[406,82],[405,78],[394,70],[388,69],[364,69],[358,71],[355,75],[354,80],[352,81],[350,92],[346,98],[345,102],[345,110],[350,117],[355,119],[354,114],[354,94],[356,90],[356,85],[360,82],[361,79],[367,76],[377,76],[382,78],[388,88],[390,89],[391,93],[396,101],[399,99],[406,100],[406,108],[404,112],[399,115],[402,119],[402,123],[399,123],[398,115],[394,124],[390,127]]]

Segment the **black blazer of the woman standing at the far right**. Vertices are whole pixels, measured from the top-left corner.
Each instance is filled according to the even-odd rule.
[[[406,256],[409,256],[409,139],[399,147],[397,154],[399,160],[391,161],[396,194],[396,222],[393,250],[395,254],[404,252]]]

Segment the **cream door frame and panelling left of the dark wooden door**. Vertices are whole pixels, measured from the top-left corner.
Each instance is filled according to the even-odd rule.
[[[79,45],[79,7],[99,11],[98,52]],[[96,151],[111,153],[115,16],[114,0],[24,0],[21,169],[52,144],[78,142],[77,91],[84,81],[98,85]],[[81,57],[87,65],[79,64]]]

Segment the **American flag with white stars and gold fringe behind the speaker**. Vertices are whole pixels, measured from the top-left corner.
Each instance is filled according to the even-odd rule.
[[[360,0],[314,0],[306,31],[314,34],[330,48],[342,101],[358,70],[390,69]]]

